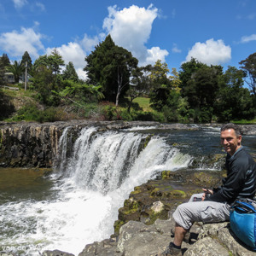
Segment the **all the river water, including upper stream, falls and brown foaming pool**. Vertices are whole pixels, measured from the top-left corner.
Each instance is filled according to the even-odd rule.
[[[211,127],[105,132],[90,127],[81,131],[73,154],[67,156],[69,129],[60,139],[53,174],[0,169],[0,253],[36,256],[60,249],[78,255],[86,244],[113,234],[118,209],[135,186],[160,171],[190,167],[194,159],[206,172],[218,170],[219,165],[209,166],[204,159],[224,153],[219,131]],[[255,136],[245,136],[242,142],[256,153]]]

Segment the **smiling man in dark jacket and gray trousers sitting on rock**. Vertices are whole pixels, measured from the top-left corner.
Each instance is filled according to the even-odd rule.
[[[226,156],[227,177],[218,189],[203,189],[204,193],[192,195],[187,203],[179,205],[173,213],[176,222],[174,241],[160,255],[182,255],[183,240],[194,222],[212,223],[230,219],[230,205],[237,198],[253,199],[256,191],[256,163],[241,146],[241,131],[237,125],[221,127],[220,139]],[[200,198],[200,199],[198,199]],[[196,201],[200,200],[200,201]],[[187,236],[186,236],[187,234]]]

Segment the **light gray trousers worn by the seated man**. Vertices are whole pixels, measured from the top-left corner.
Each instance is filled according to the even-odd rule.
[[[194,222],[213,223],[230,219],[230,205],[217,201],[193,201],[194,197],[201,197],[201,194],[192,195],[187,203],[179,205],[173,218],[177,224],[185,230],[189,230]]]

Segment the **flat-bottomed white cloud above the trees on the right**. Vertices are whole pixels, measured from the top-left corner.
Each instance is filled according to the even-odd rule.
[[[225,45],[223,40],[214,41],[212,38],[207,40],[206,43],[196,43],[189,50],[186,61],[190,61],[192,57],[207,65],[219,65],[230,61],[231,48],[229,45]]]

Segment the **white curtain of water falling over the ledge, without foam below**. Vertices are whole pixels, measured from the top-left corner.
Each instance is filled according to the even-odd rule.
[[[67,128],[68,129],[68,128]],[[157,172],[187,166],[188,154],[166,145],[161,137],[136,132],[96,132],[96,127],[84,128],[73,146],[73,156],[67,160],[67,130],[60,139],[62,173],[84,189],[107,195],[118,189],[128,178],[153,177]],[[149,139],[149,138],[148,138]],[[65,163],[68,165],[65,166]],[[147,174],[147,175],[146,175]],[[137,184],[135,184],[137,185]]]

